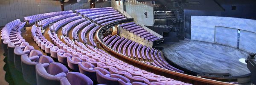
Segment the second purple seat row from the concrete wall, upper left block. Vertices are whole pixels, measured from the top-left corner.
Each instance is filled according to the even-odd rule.
[[[71,14],[63,14],[63,15],[59,15],[59,16],[55,16],[55,17],[49,17],[47,19],[41,20],[39,21],[37,24],[38,26],[42,26],[42,28],[44,28],[45,26],[49,25],[50,23],[56,22],[58,20],[62,20],[68,17],[74,17],[78,14],[76,13],[71,13]]]

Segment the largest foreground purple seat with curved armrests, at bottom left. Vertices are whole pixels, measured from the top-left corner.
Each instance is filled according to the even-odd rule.
[[[68,69],[61,63],[37,64],[35,66],[37,85],[60,85]]]

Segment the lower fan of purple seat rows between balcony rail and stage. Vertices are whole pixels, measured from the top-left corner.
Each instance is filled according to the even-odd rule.
[[[179,69],[169,65],[169,63],[161,57],[161,52],[154,48],[147,47],[143,44],[128,40],[127,38],[117,35],[108,35],[103,39],[103,42],[113,48],[113,50],[116,50],[116,47],[119,46],[119,48],[122,48],[122,54],[127,55],[128,57],[131,57],[138,61],[145,62],[147,64],[154,65],[160,68],[166,68],[171,71],[184,73],[183,71],[180,71]],[[121,45],[120,42],[123,42],[123,44]],[[118,49],[118,51],[119,53],[121,53],[121,49]]]

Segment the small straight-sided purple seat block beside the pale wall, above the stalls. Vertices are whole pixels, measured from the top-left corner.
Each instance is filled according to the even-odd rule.
[[[149,42],[153,42],[155,40],[160,39],[160,37],[155,36],[154,34],[145,30],[142,26],[139,26],[134,22],[121,24],[119,25],[119,27],[122,27],[126,31],[129,31],[133,34],[136,34],[138,37],[148,40]]]

